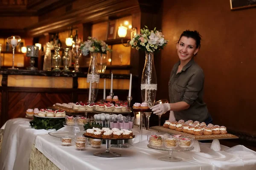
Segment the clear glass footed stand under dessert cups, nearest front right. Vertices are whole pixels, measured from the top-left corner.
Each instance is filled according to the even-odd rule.
[[[165,147],[156,147],[153,146],[151,144],[148,144],[148,147],[151,149],[155,149],[155,150],[167,150],[168,151],[168,156],[164,156],[164,157],[160,157],[158,159],[162,160],[162,161],[182,161],[182,159],[177,158],[175,156],[172,156],[172,151],[188,151],[188,150],[193,150],[194,147],[175,147],[175,148],[165,148]]]

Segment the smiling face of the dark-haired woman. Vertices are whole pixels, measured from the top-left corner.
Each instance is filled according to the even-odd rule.
[[[189,61],[199,50],[193,38],[181,37],[177,43],[177,54],[181,61]]]

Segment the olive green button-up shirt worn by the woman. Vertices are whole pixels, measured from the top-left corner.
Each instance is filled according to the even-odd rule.
[[[174,111],[175,118],[176,120],[204,122],[209,116],[207,106],[203,101],[204,72],[194,59],[191,59],[177,73],[179,65],[180,61],[174,65],[169,80],[170,103],[183,101],[190,107],[183,111]]]

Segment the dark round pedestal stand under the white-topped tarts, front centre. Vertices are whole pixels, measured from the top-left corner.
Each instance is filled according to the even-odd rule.
[[[98,139],[98,138],[93,138],[91,136],[86,136],[86,135],[84,135],[84,137],[91,138],[91,139]],[[135,135],[129,139],[133,139],[134,137]],[[117,139],[105,139],[105,140],[106,140],[106,150],[104,152],[93,153],[93,155],[99,156],[99,157],[105,157],[105,158],[121,157],[122,154],[110,151],[111,140],[117,140]],[[118,139],[118,140],[125,140],[125,139]]]

